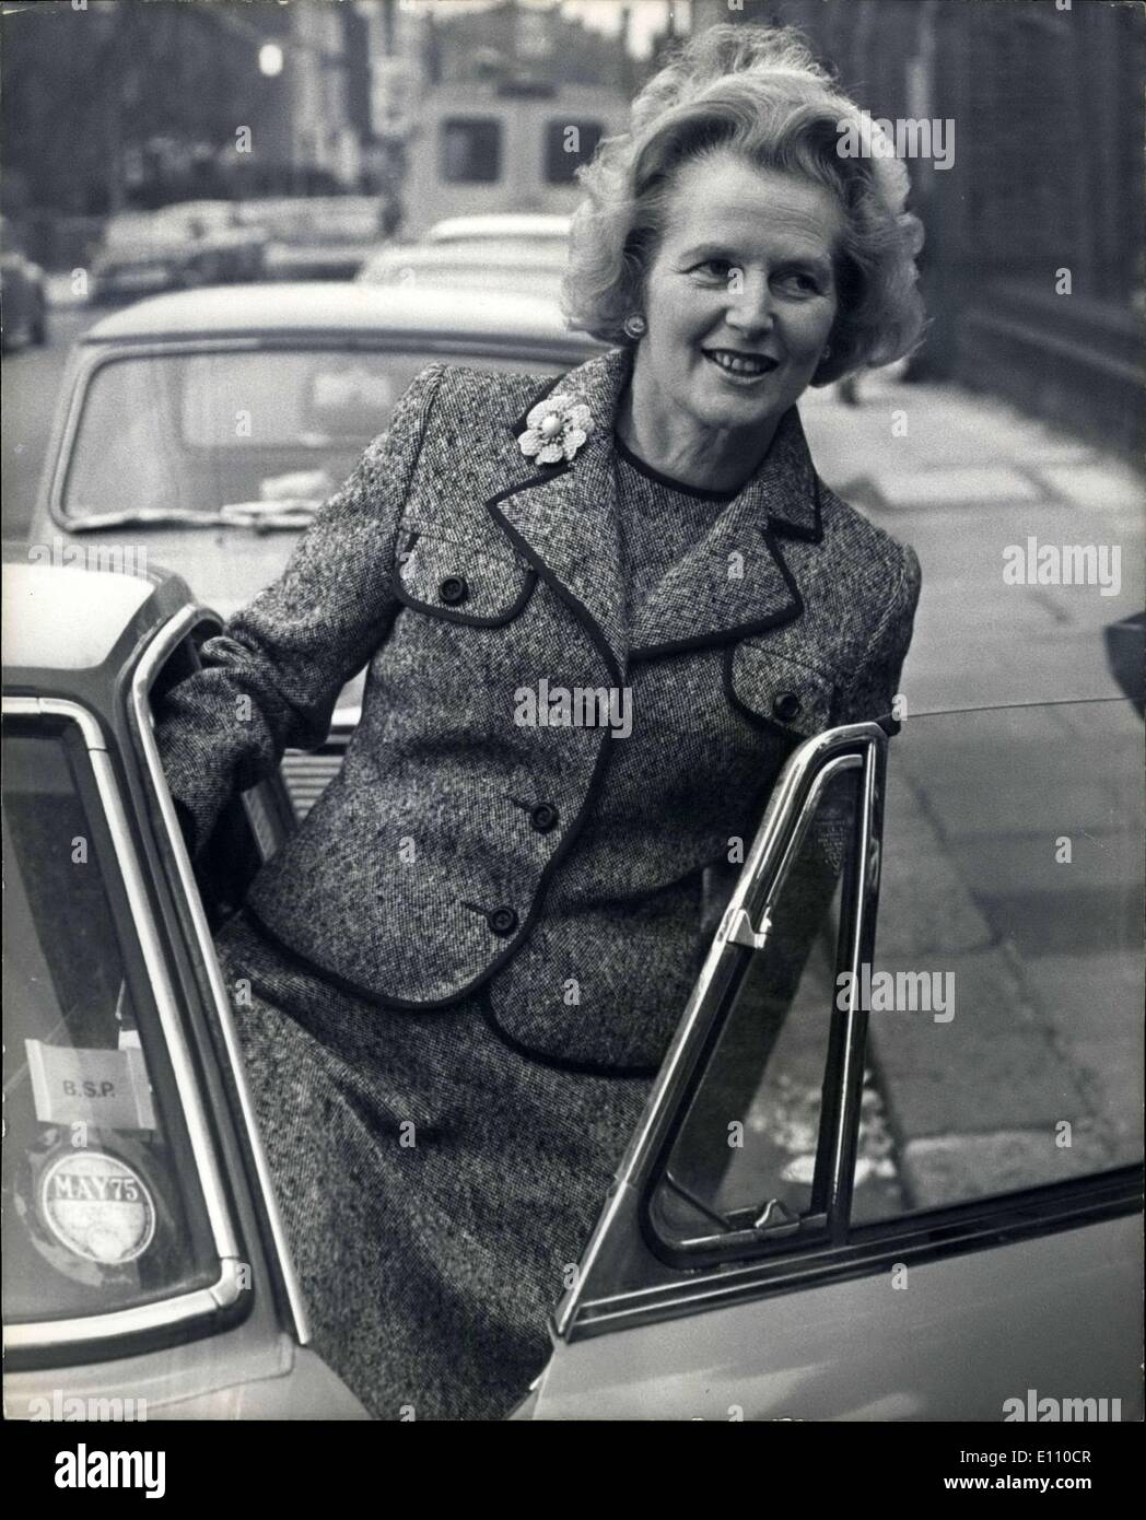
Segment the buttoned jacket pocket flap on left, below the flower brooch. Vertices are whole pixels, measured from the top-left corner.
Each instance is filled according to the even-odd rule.
[[[419,529],[403,530],[398,538],[395,593],[407,606],[432,617],[495,628],[523,611],[535,584],[532,565],[477,544]]]

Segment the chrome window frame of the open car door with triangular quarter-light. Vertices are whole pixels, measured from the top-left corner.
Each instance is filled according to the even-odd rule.
[[[897,731],[897,725],[889,722],[888,727],[891,733]],[[790,1292],[818,1281],[868,1275],[891,1263],[920,1265],[959,1251],[1099,1224],[1141,1208],[1143,1173],[1140,1166],[1131,1164],[888,1221],[851,1224],[851,1172],[866,1044],[866,1014],[856,1006],[859,977],[853,976],[847,1014],[836,1024],[845,1031],[847,1070],[841,1073],[836,1093],[825,1093],[821,1119],[824,1126],[831,1116],[836,1131],[824,1228],[792,1233],[771,1246],[754,1245],[725,1260],[699,1262],[692,1268],[679,1260],[666,1260],[663,1251],[652,1249],[646,1224],[649,1189],[669,1154],[666,1146],[670,1148],[682,1105],[695,1088],[692,1078],[711,1049],[713,1024],[728,997],[730,980],[742,979],[751,952],[766,944],[766,936],[760,939],[752,927],[752,910],[760,907],[780,879],[801,813],[815,806],[809,800],[813,798],[816,774],[834,757],[865,749],[868,755],[857,834],[862,854],[856,862],[857,866],[862,863],[862,869],[853,872],[859,891],[851,894],[851,900],[847,894],[844,898],[841,926],[847,929],[845,917],[851,915],[851,927],[847,930],[847,955],[841,953],[837,964],[847,965],[850,958],[853,970],[859,970],[857,956],[871,959],[880,876],[886,739],[883,724],[847,725],[806,740],[789,757],[641,1122],[582,1252],[573,1286],[553,1312],[555,1338],[573,1342],[723,1307],[745,1298]],[[742,958],[739,965],[734,959],[737,952]],[[851,1170],[847,1169],[848,1154]],[[643,1252],[635,1263],[634,1249]]]

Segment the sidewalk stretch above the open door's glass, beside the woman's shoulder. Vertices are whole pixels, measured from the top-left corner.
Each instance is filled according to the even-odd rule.
[[[913,711],[1117,695],[1102,628],[1146,605],[1146,485],[1126,464],[991,397],[885,374],[857,407],[809,391],[801,412],[827,483],[920,555]],[[1119,546],[1119,593],[1006,585],[1003,550],[1030,535]]]

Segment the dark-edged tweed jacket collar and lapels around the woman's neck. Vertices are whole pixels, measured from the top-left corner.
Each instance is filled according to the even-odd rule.
[[[790,622],[804,610],[784,564],[783,537],[819,543],[819,482],[795,407],[780,421],[760,468],[708,532],[625,614],[625,558],[613,429],[631,354],[590,359],[533,395],[506,427],[509,483],[486,502],[494,521],[585,622],[617,684],[631,658],[702,649]],[[576,395],[593,418],[571,461],[538,465],[518,438],[546,395]]]

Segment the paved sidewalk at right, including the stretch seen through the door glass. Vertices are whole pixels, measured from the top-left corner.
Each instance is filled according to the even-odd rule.
[[[926,714],[1122,695],[1102,629],[1143,606],[1143,483],[1119,459],[956,388],[871,377],[859,407],[809,392],[801,410],[827,483],[923,564],[907,720],[891,746],[875,967],[948,973],[954,1017],[871,1017],[909,1205],[1131,1161],[1141,720],[1126,702]],[[1117,593],[1008,585],[1003,550],[1027,535],[1117,546]],[[1070,862],[1058,859],[1064,838]]]

